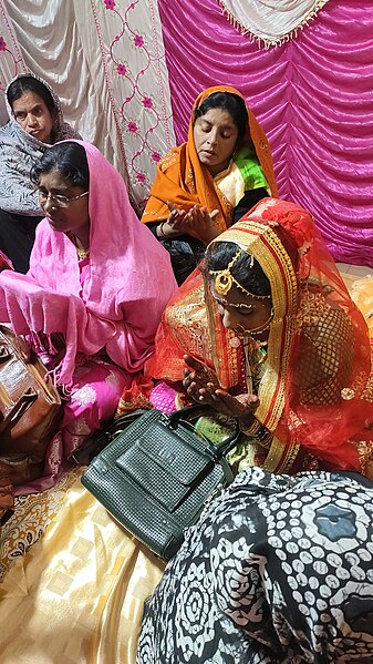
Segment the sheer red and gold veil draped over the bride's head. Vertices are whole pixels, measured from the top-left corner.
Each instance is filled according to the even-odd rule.
[[[372,347],[311,215],[294,203],[266,198],[214,242],[252,255],[271,285],[273,319],[256,428],[273,433],[266,468],[287,471],[300,448],[333,468],[373,467]],[[207,277],[196,270],[164,314],[154,378],[182,380],[183,355],[213,367],[221,387],[238,382],[239,349],[224,328]]]

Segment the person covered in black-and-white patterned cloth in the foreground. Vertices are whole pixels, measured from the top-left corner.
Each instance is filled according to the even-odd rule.
[[[372,501],[356,473],[239,474],[167,565],[137,664],[373,662]]]

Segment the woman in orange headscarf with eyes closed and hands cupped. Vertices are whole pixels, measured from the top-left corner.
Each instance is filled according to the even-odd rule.
[[[143,222],[182,284],[206,245],[268,195],[277,186],[263,130],[235,88],[208,88],[195,102],[187,142],[158,165]]]

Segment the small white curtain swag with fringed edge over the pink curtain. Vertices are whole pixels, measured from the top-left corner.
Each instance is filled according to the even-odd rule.
[[[242,33],[266,47],[297,34],[328,0],[218,0],[224,13]]]

